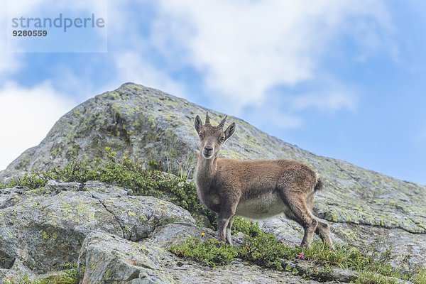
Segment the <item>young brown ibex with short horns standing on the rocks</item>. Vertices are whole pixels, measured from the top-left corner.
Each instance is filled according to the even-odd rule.
[[[312,215],[314,195],[322,188],[320,176],[295,160],[233,160],[218,158],[224,142],[235,131],[235,122],[224,130],[226,117],[212,126],[209,114],[205,124],[195,118],[200,136],[200,153],[195,171],[197,195],[209,209],[218,213],[218,239],[231,242],[234,215],[264,219],[284,213],[303,226],[300,246],[308,247],[314,232],[333,248],[329,225]]]

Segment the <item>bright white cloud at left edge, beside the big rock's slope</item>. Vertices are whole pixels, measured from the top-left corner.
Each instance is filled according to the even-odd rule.
[[[0,89],[0,170],[23,151],[38,145],[75,102],[49,82],[32,88],[6,82]]]

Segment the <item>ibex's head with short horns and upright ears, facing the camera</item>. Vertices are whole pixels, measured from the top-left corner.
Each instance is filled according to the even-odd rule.
[[[195,117],[195,130],[197,130],[200,137],[200,153],[206,159],[217,157],[224,142],[234,134],[235,122],[231,123],[227,129],[224,130],[226,121],[225,116],[218,126],[210,124],[209,113],[206,114],[206,121],[204,125],[200,116]]]

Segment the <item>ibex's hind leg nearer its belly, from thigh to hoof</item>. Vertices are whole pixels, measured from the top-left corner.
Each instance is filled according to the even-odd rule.
[[[280,190],[280,196],[283,202],[288,205],[291,212],[295,215],[295,221],[302,225],[305,230],[300,247],[309,247],[315,230],[317,229],[318,221],[307,208],[305,202],[306,197],[300,195],[300,191],[291,188]]]

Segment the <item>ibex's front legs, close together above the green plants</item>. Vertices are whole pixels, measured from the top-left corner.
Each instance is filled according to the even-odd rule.
[[[234,218],[238,201],[239,199],[235,197],[221,198],[221,209],[217,216],[217,230],[219,232],[217,239],[219,239],[219,241],[226,241],[226,244],[232,244],[231,228],[229,228],[229,226],[232,226],[232,219]],[[226,231],[229,231],[229,233]]]

